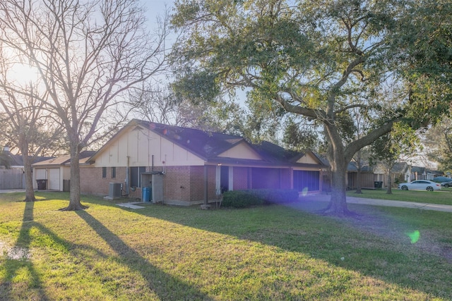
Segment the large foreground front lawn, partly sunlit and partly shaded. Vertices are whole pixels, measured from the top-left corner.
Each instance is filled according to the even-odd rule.
[[[0,195],[1,300],[452,299],[445,212],[350,205],[360,218],[336,219],[303,203],[133,210],[97,197],[61,212],[66,193],[37,196]]]

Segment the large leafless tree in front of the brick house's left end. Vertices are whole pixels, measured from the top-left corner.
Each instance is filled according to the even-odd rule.
[[[79,154],[102,114],[126,91],[165,64],[166,26],[146,29],[138,0],[4,0],[1,41],[37,68],[48,99],[40,99],[64,127],[71,154],[71,197],[81,204]]]

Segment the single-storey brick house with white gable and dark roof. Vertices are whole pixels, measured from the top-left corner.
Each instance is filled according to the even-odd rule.
[[[81,192],[141,197],[149,188],[153,202],[202,204],[228,190],[321,191],[322,167],[312,152],[133,120],[81,166]]]

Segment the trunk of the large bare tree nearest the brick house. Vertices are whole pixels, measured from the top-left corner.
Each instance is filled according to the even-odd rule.
[[[62,211],[83,210],[88,207],[81,203],[80,193],[80,149],[77,142],[71,140],[71,192],[69,192],[69,206]]]

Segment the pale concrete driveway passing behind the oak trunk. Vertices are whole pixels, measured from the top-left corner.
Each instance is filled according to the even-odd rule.
[[[306,197],[300,197],[300,200],[307,202],[329,202],[330,195],[309,195]],[[401,207],[401,208],[414,208],[423,210],[452,212],[452,205],[392,201],[388,199],[367,199],[365,197],[347,196],[347,204],[363,204],[372,206]]]

